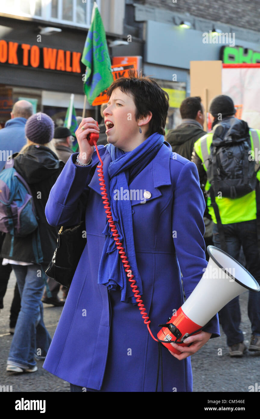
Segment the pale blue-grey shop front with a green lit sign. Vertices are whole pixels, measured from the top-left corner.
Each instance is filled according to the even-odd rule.
[[[138,6],[136,21],[145,20],[144,73],[152,75],[170,96],[166,129],[180,123],[180,103],[190,96],[190,61],[259,62],[260,44],[243,39],[243,31],[212,34],[211,30],[181,28],[170,23],[147,20]],[[209,27],[213,24],[205,23]],[[205,26],[206,27],[206,26]],[[240,35],[240,39],[239,39]]]

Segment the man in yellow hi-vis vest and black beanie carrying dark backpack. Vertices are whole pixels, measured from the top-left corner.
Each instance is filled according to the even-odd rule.
[[[260,130],[249,129],[245,121],[234,117],[236,109],[229,96],[216,96],[209,112],[212,131],[196,141],[191,160],[205,184],[214,245],[236,260],[242,246],[247,270],[260,283],[255,190],[260,179]],[[239,297],[222,308],[219,316],[230,356],[242,357],[247,348],[239,329]],[[249,350],[260,352],[259,292],[249,291],[248,316],[252,328]]]

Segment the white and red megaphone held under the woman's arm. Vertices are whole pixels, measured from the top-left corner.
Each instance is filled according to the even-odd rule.
[[[181,352],[174,349],[170,341],[187,346],[183,340],[199,333],[229,301],[247,290],[260,291],[255,278],[227,253],[215,246],[208,246],[207,252],[209,263],[203,269],[205,272],[200,282],[175,316],[159,325],[163,327],[157,334],[158,339],[176,354]]]

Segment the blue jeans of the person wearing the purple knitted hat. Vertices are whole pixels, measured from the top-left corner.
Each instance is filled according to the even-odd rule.
[[[21,310],[7,363],[30,368],[36,365],[34,354],[46,356],[51,343],[51,336],[44,326],[41,302],[45,284],[39,277],[39,265],[12,265],[12,268],[21,295]]]

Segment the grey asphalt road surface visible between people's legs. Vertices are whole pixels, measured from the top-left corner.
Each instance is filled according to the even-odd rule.
[[[8,289],[4,298],[4,309],[0,312],[0,385],[12,385],[13,392],[69,392],[70,385],[42,368],[43,362],[37,362],[38,371],[15,374],[6,372],[6,361],[12,341],[9,331],[9,310],[13,298],[15,276],[11,273]],[[62,295],[60,295],[62,296]],[[240,295],[242,315],[241,328],[245,335],[245,344],[250,342],[250,321],[247,317],[248,292]],[[44,304],[44,323],[51,335],[59,321],[62,307]],[[140,318],[141,321],[141,318]],[[208,343],[192,356],[193,392],[249,392],[257,388],[260,391],[260,352],[248,352],[242,358],[230,358],[226,339],[210,339]],[[257,383],[257,385],[256,385]]]

